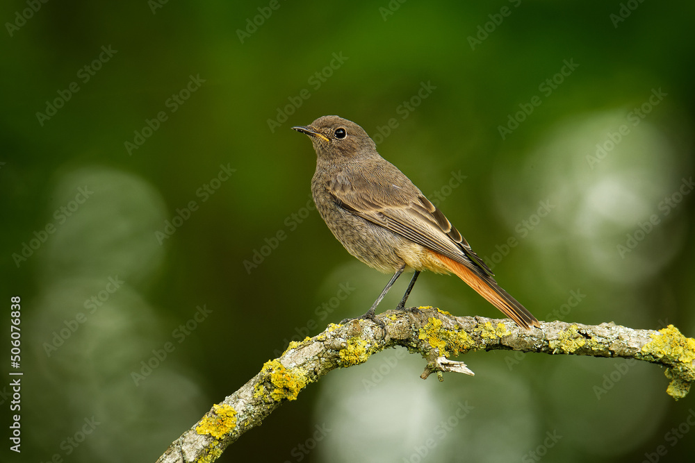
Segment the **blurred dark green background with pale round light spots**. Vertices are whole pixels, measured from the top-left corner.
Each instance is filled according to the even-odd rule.
[[[22,453],[5,444],[0,459],[154,462],[291,339],[365,312],[389,276],[313,210],[316,155],[290,130],[322,115],[372,135],[539,319],[692,337],[694,14],[635,0],[3,2],[0,341],[9,351],[20,296],[24,376]],[[500,317],[431,273],[409,303]],[[695,451],[695,398],[673,401],[655,365],[459,360],[474,378],[420,380],[423,360],[398,349],[334,371],[220,461]]]

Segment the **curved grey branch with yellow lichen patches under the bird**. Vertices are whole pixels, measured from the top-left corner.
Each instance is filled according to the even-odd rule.
[[[473,375],[463,362],[446,357],[478,350],[625,357],[660,364],[667,367],[665,374],[671,380],[667,393],[676,400],[685,397],[695,381],[695,339],[672,325],[654,331],[614,323],[589,326],[553,321],[528,331],[509,319],[454,317],[431,307],[389,310],[378,317],[386,323],[386,332],[372,321],[353,320],[345,325],[332,323],[319,335],[291,342],[279,358],[265,362],[254,378],[213,405],[158,462],[212,462],[282,403],[295,400],[311,382],[395,346],[420,353],[427,360],[421,378],[436,373],[440,381],[445,371]]]

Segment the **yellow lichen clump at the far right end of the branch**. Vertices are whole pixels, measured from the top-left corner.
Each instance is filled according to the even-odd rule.
[[[695,381],[695,339],[685,337],[673,325],[659,330],[658,335],[651,335],[651,342],[641,348],[646,360],[666,360],[671,367],[664,372],[671,380],[666,392],[678,400],[685,397],[692,382]]]

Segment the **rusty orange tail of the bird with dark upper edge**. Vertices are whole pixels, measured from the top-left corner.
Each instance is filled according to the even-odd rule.
[[[449,271],[461,278],[461,280],[464,280],[468,286],[475,289],[477,294],[486,298],[489,303],[501,310],[507,317],[514,320],[518,326],[526,329],[530,329],[532,326],[541,327],[541,323],[539,323],[536,317],[526,310],[526,308],[516,301],[508,292],[500,288],[494,278],[491,276],[481,276],[460,262],[456,262],[440,253],[430,252],[434,253],[436,258],[439,259]]]

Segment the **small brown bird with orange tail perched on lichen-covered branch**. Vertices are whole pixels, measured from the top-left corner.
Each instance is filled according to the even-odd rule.
[[[414,269],[398,304],[403,309],[420,271],[427,269],[455,273],[518,326],[540,327],[523,305],[498,286],[491,269],[441,210],[377,153],[360,126],[338,116],[324,116],[293,129],[309,135],[316,150],[311,192],[328,228],[354,257],[373,269],[393,273],[372,307],[358,318],[383,325],[374,310],[395,280],[406,269]]]

